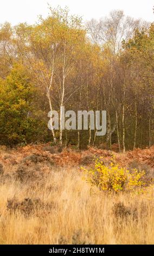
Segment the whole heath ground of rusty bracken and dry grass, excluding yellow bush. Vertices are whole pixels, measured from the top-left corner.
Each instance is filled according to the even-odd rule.
[[[146,186],[105,193],[83,179],[94,158],[145,170]],[[0,146],[0,244],[153,244],[154,146],[126,153]]]

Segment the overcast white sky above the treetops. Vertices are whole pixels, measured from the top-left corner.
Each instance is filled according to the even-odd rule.
[[[37,15],[48,15],[48,5],[69,7],[70,13],[78,14],[84,20],[99,19],[113,9],[124,10],[126,15],[153,22],[153,0],[0,0],[0,23],[5,21],[16,25],[20,22],[34,23]]]

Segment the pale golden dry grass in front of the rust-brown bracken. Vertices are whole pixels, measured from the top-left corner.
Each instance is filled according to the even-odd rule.
[[[1,244],[154,243],[152,185],[142,192],[106,194],[87,184],[78,166],[9,161],[2,161]],[[22,164],[29,175],[31,169],[40,173],[37,179],[17,178]]]

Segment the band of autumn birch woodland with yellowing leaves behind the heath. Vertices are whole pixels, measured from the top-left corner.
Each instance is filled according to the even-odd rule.
[[[86,24],[50,9],[35,25],[0,28],[0,144],[51,142],[119,151],[153,144],[154,25],[114,10]],[[106,136],[52,130],[52,109],[106,110]],[[61,118],[61,117],[60,117]]]

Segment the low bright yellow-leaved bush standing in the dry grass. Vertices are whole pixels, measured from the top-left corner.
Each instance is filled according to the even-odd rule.
[[[102,161],[96,160],[94,168],[89,170],[82,168],[82,170],[85,174],[84,179],[103,191],[133,190],[135,187],[144,185],[142,181],[142,177],[145,175],[144,171],[137,169],[130,171],[113,162],[109,166],[105,166]]]

